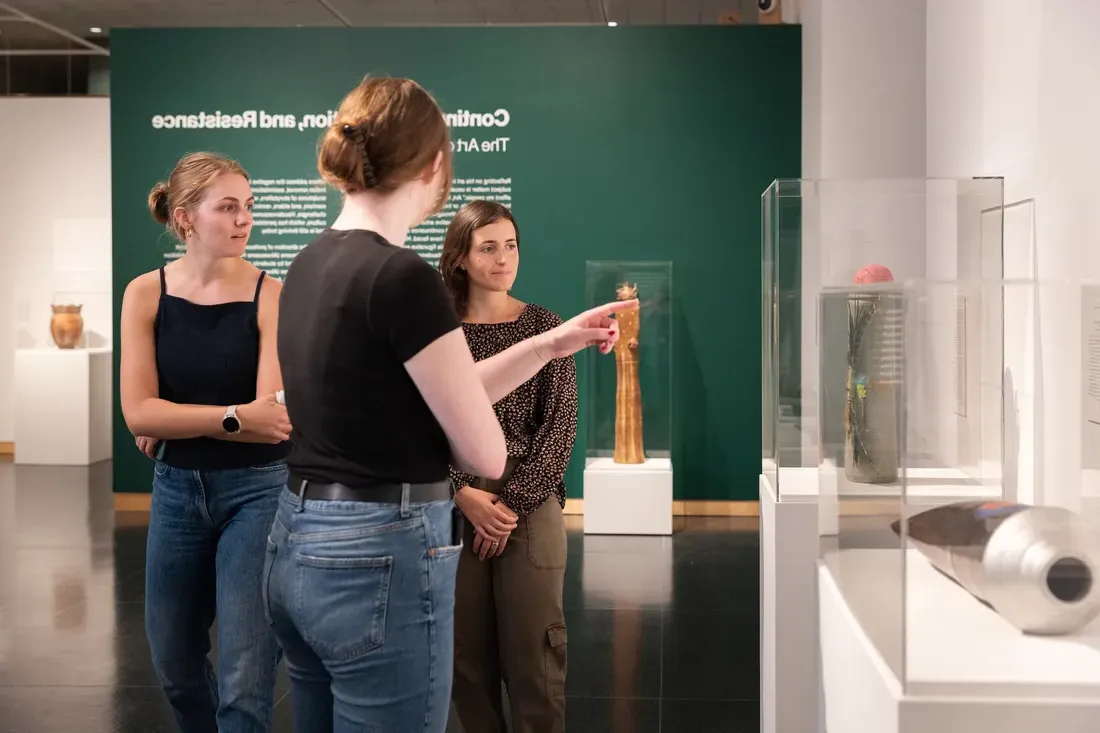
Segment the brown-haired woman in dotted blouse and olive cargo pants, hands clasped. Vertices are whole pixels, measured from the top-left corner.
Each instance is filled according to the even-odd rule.
[[[439,269],[474,360],[561,318],[508,294],[519,230],[495,201],[471,201],[447,230]],[[452,699],[462,727],[504,733],[501,681],[516,733],[565,730],[565,468],[576,438],[576,366],[549,362],[494,408],[508,445],[496,481],[451,469],[466,518],[454,608]]]

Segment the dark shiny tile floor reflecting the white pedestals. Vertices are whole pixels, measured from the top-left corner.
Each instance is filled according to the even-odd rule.
[[[659,538],[570,521],[568,730],[758,731],[755,522]],[[175,730],[145,643],[144,525],[114,513],[109,463],[0,462],[0,733]],[[275,733],[293,730],[287,687]]]

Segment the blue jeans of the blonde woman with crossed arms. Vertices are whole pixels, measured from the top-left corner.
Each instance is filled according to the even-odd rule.
[[[145,559],[145,633],[183,733],[267,733],[280,650],[264,617],[264,543],[282,461],[193,471],[157,462]],[[218,674],[210,627],[218,620]]]

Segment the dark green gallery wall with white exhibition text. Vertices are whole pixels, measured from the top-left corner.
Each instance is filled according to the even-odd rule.
[[[455,187],[409,247],[436,262],[454,209],[498,198],[520,229],[514,294],[563,317],[593,297],[587,261],[671,262],[671,288],[653,284],[671,299],[651,304],[668,318],[642,324],[647,447],[671,448],[678,500],[756,500],[760,195],[773,178],[800,175],[800,31],[112,31],[116,328],[127,284],[178,256],[145,201],[182,155],[209,150],[243,163],[257,199],[245,256],[282,277],[339,211],[316,169],[329,116],[365,75],[410,77],[448,114]],[[581,354],[578,375],[585,404],[566,475],[573,497],[586,448],[608,441],[613,358]],[[148,492],[152,464],[117,392],[114,403],[114,489]]]

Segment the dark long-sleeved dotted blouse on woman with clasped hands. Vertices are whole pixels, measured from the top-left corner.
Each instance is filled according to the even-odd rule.
[[[548,331],[561,318],[546,308],[527,305],[519,318],[505,324],[462,324],[474,361],[488,359],[524,339]],[[501,501],[522,516],[556,494],[565,506],[565,468],[576,441],[576,363],[554,359],[493,408],[504,429],[508,456],[519,463],[501,492]],[[474,477],[451,467],[457,489]]]

